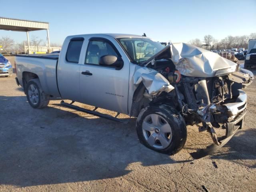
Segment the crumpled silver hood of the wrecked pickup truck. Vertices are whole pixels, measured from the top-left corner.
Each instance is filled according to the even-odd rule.
[[[230,73],[236,71],[236,63],[214,52],[186,43],[173,43],[170,48],[172,61],[182,75],[214,77],[218,70],[227,69]]]

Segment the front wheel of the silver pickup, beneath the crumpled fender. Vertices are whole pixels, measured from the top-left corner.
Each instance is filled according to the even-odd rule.
[[[168,105],[142,109],[136,121],[136,129],[144,146],[169,155],[179,152],[187,139],[184,119]]]

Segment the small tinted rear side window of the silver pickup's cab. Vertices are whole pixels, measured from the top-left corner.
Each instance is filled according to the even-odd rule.
[[[71,40],[69,42],[66,53],[66,60],[68,62],[78,63],[83,42],[83,40]]]

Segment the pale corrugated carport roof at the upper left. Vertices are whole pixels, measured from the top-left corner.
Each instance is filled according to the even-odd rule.
[[[0,30],[11,30],[11,31],[36,31],[49,29],[48,22],[31,21],[22,19],[13,19],[0,17]]]

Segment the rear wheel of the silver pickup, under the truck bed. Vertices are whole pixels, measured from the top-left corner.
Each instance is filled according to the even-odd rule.
[[[26,86],[27,100],[35,109],[41,109],[49,104],[50,96],[42,90],[39,79],[29,80]]]

